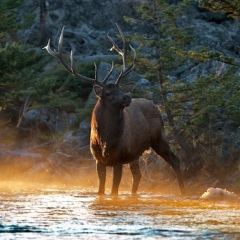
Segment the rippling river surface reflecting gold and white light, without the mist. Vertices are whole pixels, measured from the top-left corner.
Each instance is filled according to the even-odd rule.
[[[240,239],[239,202],[95,191],[1,190],[0,239]]]

